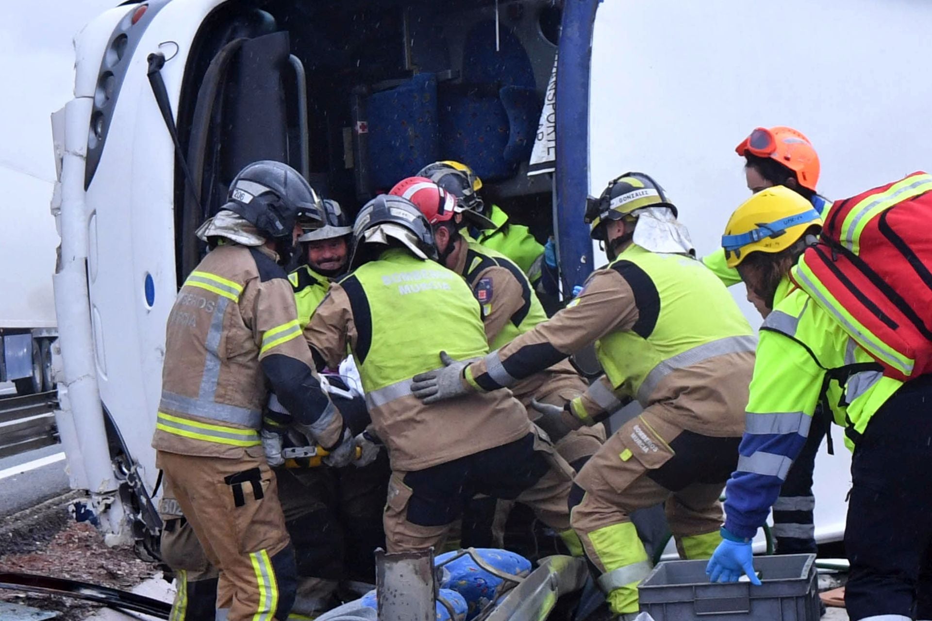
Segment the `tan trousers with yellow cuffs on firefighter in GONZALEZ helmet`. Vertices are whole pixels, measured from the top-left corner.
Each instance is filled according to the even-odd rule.
[[[631,512],[665,503],[680,556],[709,558],[721,541],[720,494],[737,463],[740,439],[651,425],[650,413],[615,432],[574,481],[572,526],[586,557],[602,573],[598,583],[615,614],[637,612],[637,584],[652,569]]]

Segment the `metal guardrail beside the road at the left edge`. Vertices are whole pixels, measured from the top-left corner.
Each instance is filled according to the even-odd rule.
[[[0,458],[58,443],[53,413],[57,407],[54,390],[0,398]]]

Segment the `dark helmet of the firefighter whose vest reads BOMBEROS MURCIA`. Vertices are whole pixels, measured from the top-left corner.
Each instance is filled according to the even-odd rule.
[[[404,245],[420,259],[437,259],[433,232],[427,218],[414,203],[401,196],[380,194],[363,205],[352,227],[355,243],[349,258],[349,268],[362,263],[365,247],[390,245],[392,240]]]

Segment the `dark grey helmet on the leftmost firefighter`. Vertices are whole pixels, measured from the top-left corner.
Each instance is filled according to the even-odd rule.
[[[240,214],[271,239],[291,240],[299,216],[322,213],[321,199],[297,170],[273,160],[247,165],[230,183],[220,209]]]

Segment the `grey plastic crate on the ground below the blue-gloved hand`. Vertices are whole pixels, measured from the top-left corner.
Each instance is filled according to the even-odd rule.
[[[761,586],[711,584],[707,560],[657,565],[638,588],[641,611],[655,621],[818,621],[816,555],[756,557]]]

